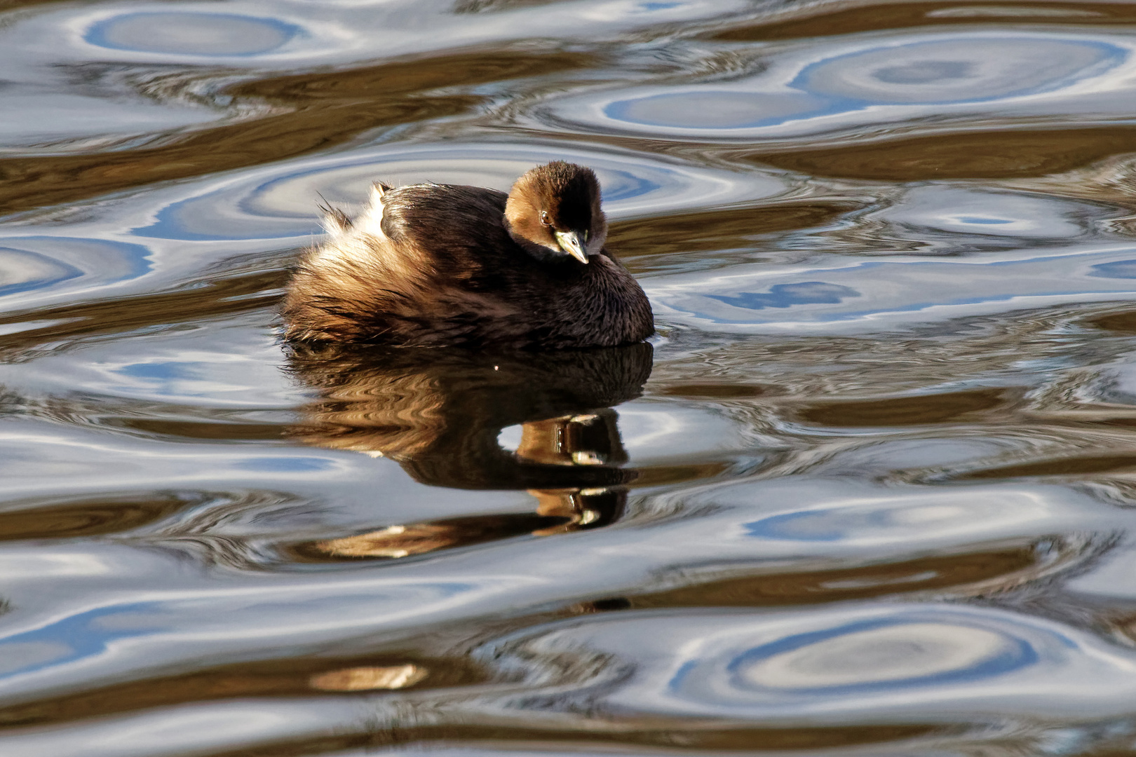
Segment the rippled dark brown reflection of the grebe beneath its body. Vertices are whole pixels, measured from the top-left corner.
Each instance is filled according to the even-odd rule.
[[[417,481],[461,489],[525,489],[533,513],[387,525],[293,545],[300,560],[392,558],[617,520],[635,472],[612,405],[637,397],[649,344],[557,353],[300,346],[292,372],[319,398],[293,439],[396,461]],[[521,426],[516,452],[498,441]]]

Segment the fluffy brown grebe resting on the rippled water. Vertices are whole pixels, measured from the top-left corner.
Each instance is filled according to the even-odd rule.
[[[376,184],[360,216],[329,210],[326,224],[289,285],[289,339],[554,350],[654,333],[646,295],[603,246],[600,184],[580,166],[534,168],[508,195]]]

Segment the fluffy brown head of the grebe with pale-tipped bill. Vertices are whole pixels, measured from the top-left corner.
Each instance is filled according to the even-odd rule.
[[[509,235],[540,260],[569,255],[582,263],[600,254],[608,220],[600,210],[600,182],[591,168],[556,160],[512,185],[504,208]]]

